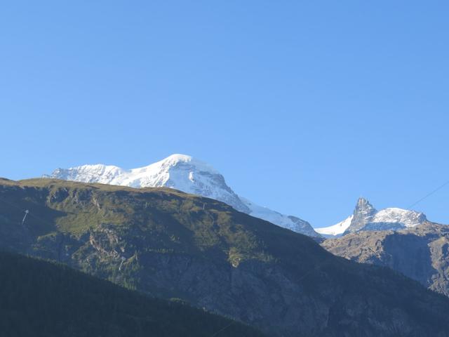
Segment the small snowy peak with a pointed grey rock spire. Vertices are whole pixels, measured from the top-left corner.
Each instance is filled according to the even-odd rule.
[[[315,230],[325,237],[339,237],[366,230],[401,230],[421,225],[426,220],[424,213],[408,209],[390,207],[377,211],[370,201],[359,198],[351,216],[336,225]]]

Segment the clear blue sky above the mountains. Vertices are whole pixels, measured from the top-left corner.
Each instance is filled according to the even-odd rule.
[[[9,4],[8,4],[8,3]],[[448,1],[2,1],[0,176],[190,154],[319,227],[449,180]],[[449,186],[415,209],[449,223]]]

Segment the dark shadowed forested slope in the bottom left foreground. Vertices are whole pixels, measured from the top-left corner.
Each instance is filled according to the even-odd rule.
[[[262,336],[188,305],[6,252],[0,252],[0,303],[0,334],[8,337]]]

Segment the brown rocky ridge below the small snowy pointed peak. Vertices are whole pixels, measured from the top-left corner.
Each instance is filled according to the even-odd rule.
[[[358,232],[328,239],[337,256],[397,270],[449,296],[449,226],[426,222],[407,230]]]

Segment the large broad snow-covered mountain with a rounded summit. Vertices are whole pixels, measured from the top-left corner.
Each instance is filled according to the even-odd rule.
[[[71,169],[57,169],[44,177],[129,187],[170,187],[225,202],[237,211],[300,234],[320,237],[305,220],[286,216],[239,197],[213,166],[185,154],[172,154],[166,159],[138,169],[127,170],[103,164],[83,165]]]

